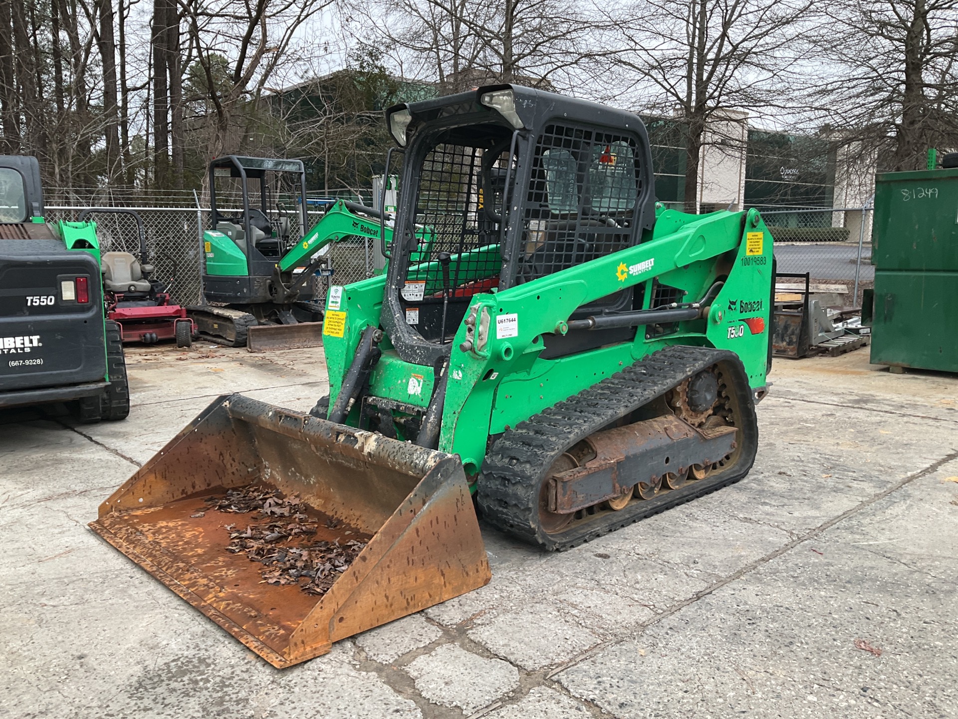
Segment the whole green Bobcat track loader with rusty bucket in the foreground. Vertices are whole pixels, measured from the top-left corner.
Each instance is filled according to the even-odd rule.
[[[309,414],[219,398],[93,523],[277,666],[487,582],[473,506],[569,549],[755,459],[774,276],[758,212],[658,205],[642,121],[599,104],[493,85],[386,120],[388,268],[329,291],[330,395]],[[263,491],[308,505],[313,539],[287,526],[249,550],[260,564],[225,559],[268,527],[217,532],[191,519],[200,499]],[[331,589],[294,604],[322,567],[289,557],[356,538]]]

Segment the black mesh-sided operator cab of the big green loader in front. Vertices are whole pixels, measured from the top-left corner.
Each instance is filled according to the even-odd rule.
[[[634,113],[490,85],[394,105],[386,121],[404,157],[382,322],[406,361],[447,355],[472,295],[638,244],[654,223],[649,137]],[[579,313],[636,302],[618,290]]]

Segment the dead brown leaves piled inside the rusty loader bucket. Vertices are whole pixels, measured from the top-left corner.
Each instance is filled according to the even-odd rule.
[[[248,524],[245,530],[237,530],[236,523],[224,525],[230,532],[226,551],[245,553],[250,561],[260,562],[265,567],[260,573],[268,584],[295,584],[308,594],[322,596],[366,546],[356,540],[345,545],[322,540],[308,545],[282,544],[315,534],[318,522],[308,516],[307,505],[296,495],[284,498],[275,488],[250,485],[231,489],[225,496],[207,498],[206,503],[208,507],[197,515],[208,509],[235,514],[259,512],[257,519],[268,520]],[[330,520],[326,525],[334,528],[336,522]]]

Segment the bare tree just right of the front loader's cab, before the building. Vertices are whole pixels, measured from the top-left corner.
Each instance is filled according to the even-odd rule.
[[[717,129],[736,125],[728,120],[738,113],[786,99],[796,64],[789,45],[810,6],[810,0],[642,0],[605,12],[608,50],[597,63],[597,81],[632,94],[639,109],[681,123],[687,211],[698,209],[703,147],[742,142],[738,130],[726,137]],[[624,83],[613,80],[624,76]]]

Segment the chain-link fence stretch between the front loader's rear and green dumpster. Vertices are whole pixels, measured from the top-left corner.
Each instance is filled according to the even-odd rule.
[[[812,283],[834,286],[836,294],[844,294],[847,307],[859,307],[862,290],[875,284],[873,215],[870,204],[762,212],[775,241],[778,271],[808,272]]]

